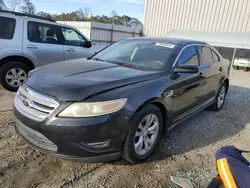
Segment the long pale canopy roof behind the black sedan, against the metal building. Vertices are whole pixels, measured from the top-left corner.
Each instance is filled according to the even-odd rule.
[[[250,32],[208,32],[208,31],[182,31],[169,32],[166,37],[199,40],[212,46],[250,49]]]

